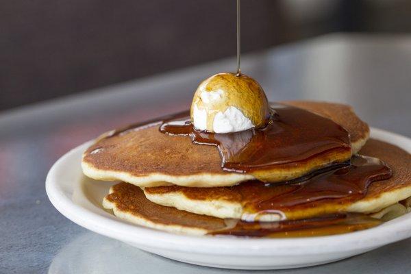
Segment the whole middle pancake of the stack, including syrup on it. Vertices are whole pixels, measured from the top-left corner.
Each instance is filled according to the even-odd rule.
[[[235,219],[249,219],[254,215],[264,221],[281,219],[278,212],[286,219],[306,219],[341,211],[370,213],[411,196],[410,153],[372,139],[360,153],[368,157],[354,156],[352,166],[319,173],[295,184],[266,186],[251,181],[221,188],[162,186],[145,188],[145,195],[163,206],[197,214]],[[390,178],[390,169],[384,162],[376,158],[392,167],[393,177]]]

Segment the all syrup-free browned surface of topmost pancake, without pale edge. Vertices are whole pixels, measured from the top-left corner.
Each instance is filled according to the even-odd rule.
[[[356,142],[358,138],[368,134],[366,123],[360,121],[347,105],[316,102],[287,103],[312,110],[340,123],[348,130],[351,142]],[[174,176],[229,173],[221,169],[221,157],[216,147],[192,144],[186,136],[167,136],[159,132],[158,126],[155,124],[144,129],[102,138],[84,153],[83,161],[95,169],[125,172],[137,177],[153,173]],[[321,163],[332,162],[333,159],[338,161],[346,159],[345,154],[322,155],[306,162],[301,161],[300,166],[292,169],[315,169],[321,166]],[[279,165],[277,169],[289,171],[290,166]]]

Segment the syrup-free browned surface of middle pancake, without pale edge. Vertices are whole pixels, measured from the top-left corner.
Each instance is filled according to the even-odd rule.
[[[373,182],[368,188],[366,196],[361,201],[367,199],[373,199],[384,194],[384,192],[390,192],[406,186],[411,186],[411,154],[395,145],[390,145],[386,142],[379,140],[369,140],[363,149],[360,151],[362,155],[367,155],[375,158],[379,158],[386,162],[393,171],[393,176],[390,179],[385,179],[378,182]],[[279,185],[272,186],[282,192],[279,188],[286,189],[287,186]],[[145,188],[145,192],[155,195],[169,192],[179,192],[185,195],[188,199],[192,200],[225,200],[231,202],[242,203],[243,206],[249,203],[256,203],[264,201],[264,193],[268,193],[264,190],[264,185],[258,182],[245,182],[238,186],[232,187],[219,187],[219,188],[186,188],[182,186],[160,186],[153,188]],[[247,195],[245,195],[245,193]],[[260,196],[258,196],[260,193]],[[270,195],[270,194],[268,194]],[[323,199],[319,201],[312,201],[310,203],[302,203],[297,206],[290,206],[287,208],[281,208],[286,213],[289,219],[299,219],[301,217],[313,216],[317,214],[327,214],[332,212],[338,212],[345,207],[351,205],[356,200],[351,197],[344,197],[338,199]]]

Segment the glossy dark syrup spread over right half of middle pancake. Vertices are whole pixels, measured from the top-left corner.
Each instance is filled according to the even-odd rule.
[[[331,200],[338,203],[331,203],[327,206],[327,211],[336,212],[342,204],[364,198],[372,182],[391,176],[391,169],[382,160],[355,155],[351,164],[314,171],[310,175],[284,184],[264,184],[254,180],[232,186],[230,189],[242,197],[245,216],[273,210],[287,214],[295,208],[315,208],[320,203]]]

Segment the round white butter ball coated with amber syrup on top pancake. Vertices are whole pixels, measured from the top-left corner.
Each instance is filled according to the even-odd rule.
[[[190,114],[197,130],[229,133],[264,127],[270,108],[256,80],[247,75],[219,73],[198,86]]]

